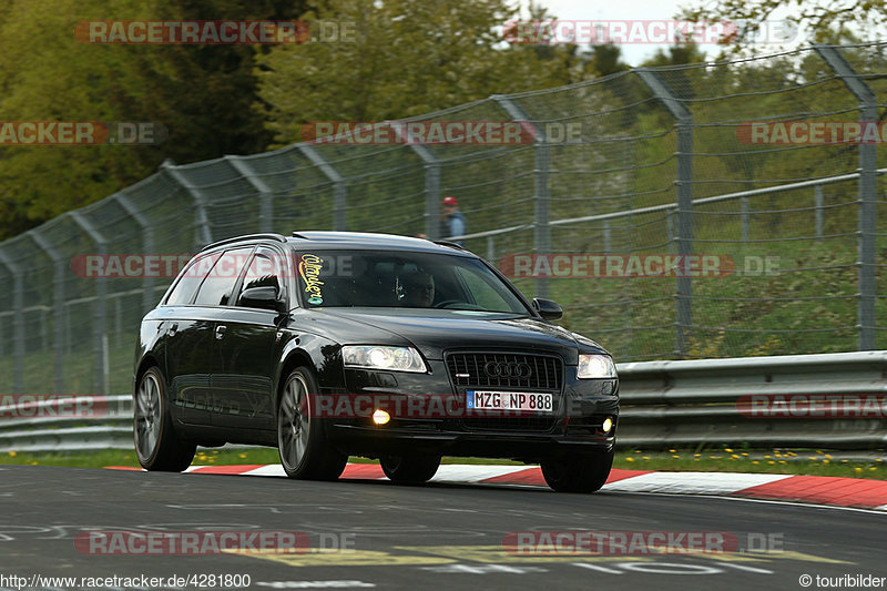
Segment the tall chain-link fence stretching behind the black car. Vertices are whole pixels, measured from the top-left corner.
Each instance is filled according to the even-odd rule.
[[[527,255],[532,272],[514,283],[561,303],[562,324],[619,361],[885,348],[884,128],[877,142],[755,141],[750,128],[881,121],[885,50],[638,69],[417,119],[519,121],[532,143],[303,143],[167,162],[0,244],[0,391],[128,391],[140,318],[172,262],[208,242],[297,230],[446,237],[445,195],[467,218],[466,247],[512,271]],[[690,253],[716,272],[675,263]],[[162,256],[126,278],[90,276],[84,258],[130,254]],[[538,266],[557,255],[567,267]]]

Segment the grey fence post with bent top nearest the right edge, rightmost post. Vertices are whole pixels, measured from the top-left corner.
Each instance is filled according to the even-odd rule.
[[[871,88],[863,81],[834,45],[814,44],[814,49],[859,100],[860,123],[877,125],[878,99]],[[875,142],[859,142],[859,304],[857,308],[859,350],[875,348],[877,147]]]

